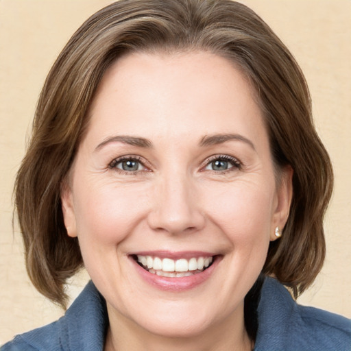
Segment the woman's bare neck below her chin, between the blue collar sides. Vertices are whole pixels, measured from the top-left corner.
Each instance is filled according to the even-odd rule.
[[[198,335],[162,336],[136,325],[123,315],[112,313],[104,351],[250,351],[253,342],[247,335],[242,313],[235,313],[220,324],[213,324]],[[240,315],[240,318],[238,318]]]

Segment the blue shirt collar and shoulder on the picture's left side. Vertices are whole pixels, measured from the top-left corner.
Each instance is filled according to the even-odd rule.
[[[89,282],[58,321],[16,336],[0,351],[102,350],[107,325],[106,302]]]

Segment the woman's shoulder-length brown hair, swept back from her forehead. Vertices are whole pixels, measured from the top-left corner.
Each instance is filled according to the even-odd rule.
[[[35,287],[66,303],[64,284],[82,267],[66,234],[60,186],[88,123],[104,72],[131,51],[202,50],[232,60],[256,90],[277,169],[293,168],[293,199],[282,238],[271,243],[263,274],[297,296],[325,256],[322,221],[332,191],[328,154],[315,132],[300,67],[252,10],[230,0],[121,0],[90,17],[64,47],[43,87],[32,140],[16,178],[27,271]]]

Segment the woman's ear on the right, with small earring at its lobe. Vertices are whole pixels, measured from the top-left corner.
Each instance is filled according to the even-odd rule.
[[[290,165],[284,167],[280,174],[279,184],[276,190],[276,204],[273,215],[273,228],[271,228],[270,239],[274,241],[276,237],[275,228],[279,227],[280,231],[287,223],[289,217],[291,200],[293,198],[293,169]]]

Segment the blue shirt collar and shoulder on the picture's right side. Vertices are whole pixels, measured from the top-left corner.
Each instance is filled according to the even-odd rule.
[[[258,305],[255,350],[351,351],[351,320],[300,306],[277,280],[267,278]]]

